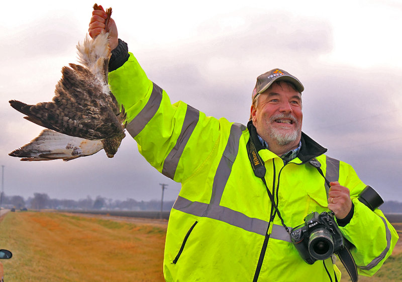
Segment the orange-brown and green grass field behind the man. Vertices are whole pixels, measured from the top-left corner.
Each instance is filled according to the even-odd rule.
[[[140,223],[138,223],[140,222]],[[0,228],[6,282],[162,282],[166,224],[129,223],[49,212],[9,213]],[[402,230],[402,224],[395,224]],[[343,272],[342,281],[349,281]],[[301,280],[303,281],[303,279]],[[402,281],[402,243],[373,277],[359,282]],[[235,282],[235,281],[233,281]]]

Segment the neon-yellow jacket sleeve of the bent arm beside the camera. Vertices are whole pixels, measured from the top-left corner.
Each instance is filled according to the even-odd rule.
[[[372,212],[357,197],[365,184],[360,181],[354,169],[342,163],[344,179],[340,179],[350,189],[354,214],[350,222],[340,227],[342,234],[354,247],[350,250],[359,274],[371,276],[391,255],[398,235],[380,210]]]

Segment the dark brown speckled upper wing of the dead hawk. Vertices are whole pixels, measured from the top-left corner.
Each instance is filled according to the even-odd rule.
[[[27,120],[70,136],[94,140],[119,134],[120,109],[109,88],[105,93],[105,82],[81,65],[69,66],[62,68],[52,102],[27,105],[12,100],[10,105]]]

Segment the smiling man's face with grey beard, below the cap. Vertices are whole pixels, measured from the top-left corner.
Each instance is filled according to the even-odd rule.
[[[251,106],[251,118],[258,134],[279,146],[297,147],[302,135],[302,97],[289,84],[273,83]]]

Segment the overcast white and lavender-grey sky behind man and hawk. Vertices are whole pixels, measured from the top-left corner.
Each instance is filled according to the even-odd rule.
[[[8,153],[42,128],[9,106],[50,101],[61,67],[76,62],[93,1],[2,3],[0,164],[7,195],[125,200],[177,197],[127,136],[63,162],[22,162]],[[384,200],[402,202],[402,2],[109,1],[119,37],[171,101],[246,124],[256,77],[282,68],[305,85],[303,131],[350,163]]]

